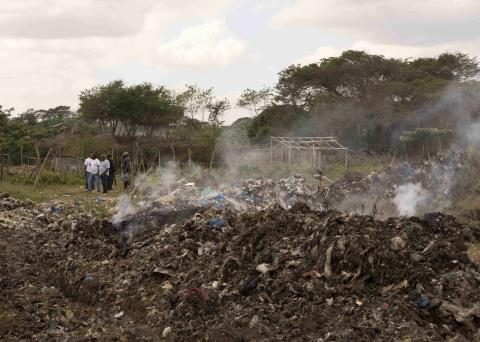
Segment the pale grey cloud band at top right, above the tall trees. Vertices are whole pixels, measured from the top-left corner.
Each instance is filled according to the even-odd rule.
[[[478,0],[296,0],[273,18],[277,27],[313,26],[354,39],[436,44],[478,37]]]

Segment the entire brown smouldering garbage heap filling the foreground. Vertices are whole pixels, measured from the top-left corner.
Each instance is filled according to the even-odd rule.
[[[480,340],[480,268],[469,257],[478,227],[440,213],[380,220],[335,210],[350,195],[395,198],[403,184],[430,196],[437,179],[426,169],[320,191],[299,174],[228,187],[182,180],[125,197],[113,220],[5,196],[0,336]]]

